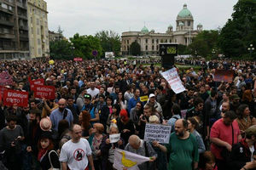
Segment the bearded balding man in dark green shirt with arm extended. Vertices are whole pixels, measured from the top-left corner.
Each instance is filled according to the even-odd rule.
[[[154,147],[169,152],[169,170],[192,170],[198,167],[199,154],[195,136],[188,132],[188,122],[178,119],[175,122],[175,133],[170,136],[169,144],[153,142]]]

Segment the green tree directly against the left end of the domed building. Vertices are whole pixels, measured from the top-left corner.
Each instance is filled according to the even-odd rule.
[[[105,52],[113,52],[116,56],[120,54],[121,42],[119,34],[114,31],[99,31],[95,35],[101,41],[102,57]]]

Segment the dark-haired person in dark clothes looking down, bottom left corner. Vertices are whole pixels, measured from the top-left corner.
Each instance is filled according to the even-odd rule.
[[[7,127],[0,131],[0,152],[4,151],[3,163],[9,170],[19,170],[21,166],[20,142],[24,133],[20,125],[16,125],[16,116],[7,116]]]

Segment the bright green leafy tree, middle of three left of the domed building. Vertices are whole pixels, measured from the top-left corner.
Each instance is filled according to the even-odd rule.
[[[93,59],[92,51],[96,50],[98,56],[102,55],[101,41],[97,37],[93,36],[79,36],[76,33],[73,37],[69,38],[73,44],[74,57],[82,57],[84,59]]]

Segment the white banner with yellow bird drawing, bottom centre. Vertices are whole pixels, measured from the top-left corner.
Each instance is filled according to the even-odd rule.
[[[113,167],[118,170],[124,169],[123,167],[126,167],[127,170],[139,170],[137,166],[149,160],[149,157],[140,156],[129,151],[119,150],[116,148],[114,150]]]

